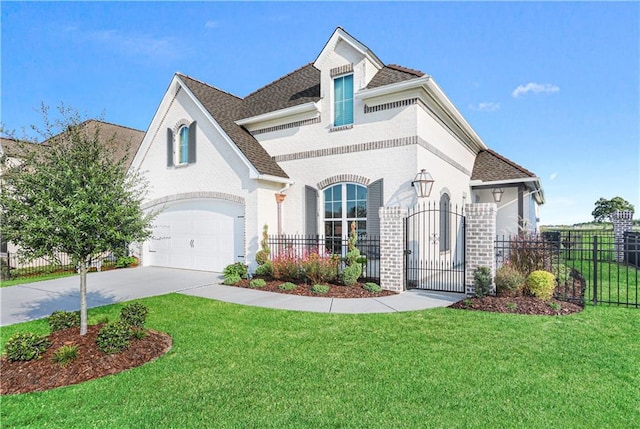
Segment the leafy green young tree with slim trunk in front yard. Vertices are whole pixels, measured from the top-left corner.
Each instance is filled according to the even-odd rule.
[[[127,172],[127,155],[116,149],[127,142],[101,136],[74,109],[61,106],[44,128],[32,127],[43,144],[19,143],[19,156],[2,160],[0,232],[21,249],[24,259],[55,260],[66,253],[80,272],[80,334],[87,332],[87,272],[107,252],[151,235],[153,214],[141,201],[146,182]],[[117,143],[117,144],[115,144]]]

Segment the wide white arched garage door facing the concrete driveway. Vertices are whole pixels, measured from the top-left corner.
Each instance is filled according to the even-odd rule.
[[[145,265],[215,272],[244,262],[242,205],[187,200],[165,206],[154,220],[143,261]]]

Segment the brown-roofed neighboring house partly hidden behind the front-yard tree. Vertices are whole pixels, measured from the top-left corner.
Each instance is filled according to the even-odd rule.
[[[102,144],[107,145],[108,148],[113,150],[113,153],[116,159],[123,159],[125,156],[127,158],[124,159],[123,166],[125,168],[129,168],[131,166],[131,162],[133,161],[133,156],[138,150],[140,143],[142,142],[142,138],[144,137],[144,131],[136,130],[129,127],[124,127],[121,125],[110,124],[103,121],[98,120],[87,120],[80,124],[81,127],[85,129],[87,134],[93,134],[96,129],[99,127],[99,139]],[[54,138],[45,140],[42,143],[29,143],[29,142],[19,142],[16,139],[0,137],[0,159],[8,162],[9,165],[16,165],[20,163],[20,159],[23,156],[22,147],[23,145],[32,145],[30,148],[37,148],[40,151],[46,151],[50,148],[50,143],[55,142],[56,139],[63,136],[63,134],[58,134]],[[52,143],[55,144],[55,143]],[[0,180],[3,174],[4,163],[0,162]],[[12,243],[7,243],[2,240],[0,236],[1,249],[0,253],[16,254],[19,248]],[[36,261],[36,263],[41,263],[41,261]],[[12,266],[15,267],[17,262],[15,262]]]

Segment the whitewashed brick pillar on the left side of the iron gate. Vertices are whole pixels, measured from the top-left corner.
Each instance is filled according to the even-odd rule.
[[[380,286],[394,292],[404,290],[404,219],[407,210],[380,207]]]

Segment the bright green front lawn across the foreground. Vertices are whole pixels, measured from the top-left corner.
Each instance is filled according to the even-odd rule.
[[[3,427],[635,428],[640,314],[338,315],[140,300],[173,348],[124,373],[2,398]],[[118,316],[122,305],[90,311]],[[44,320],[3,327],[47,333]]]

